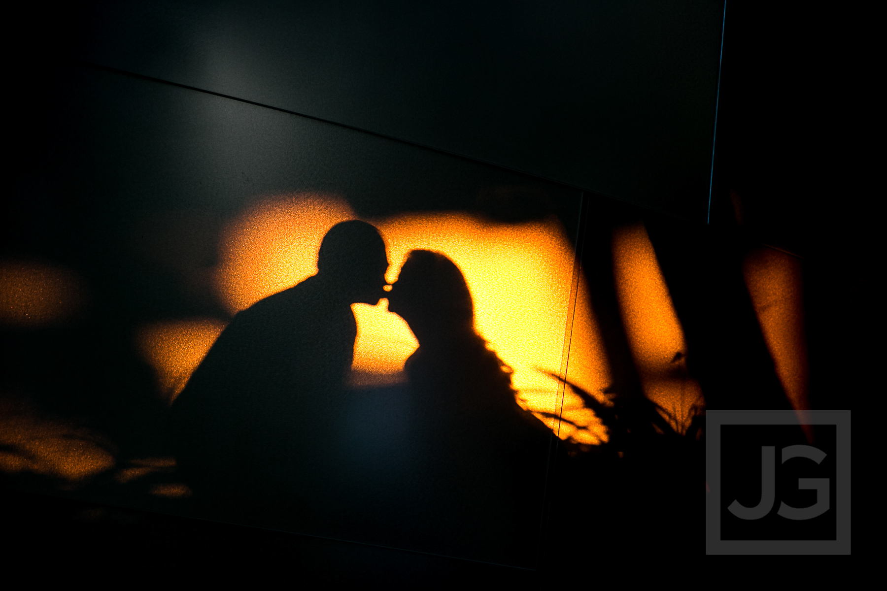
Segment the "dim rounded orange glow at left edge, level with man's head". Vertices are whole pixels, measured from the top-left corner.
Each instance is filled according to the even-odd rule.
[[[0,261],[0,324],[36,328],[82,311],[86,284],[74,271],[35,261]]]

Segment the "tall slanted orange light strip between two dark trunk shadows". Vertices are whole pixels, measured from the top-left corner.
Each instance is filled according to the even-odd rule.
[[[675,431],[686,432],[703,393],[687,375],[684,330],[642,223],[614,232],[613,273],[644,393],[666,411]]]

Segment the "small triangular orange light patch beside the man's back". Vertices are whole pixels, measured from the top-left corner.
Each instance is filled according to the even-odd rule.
[[[215,318],[193,318],[147,324],[137,331],[138,351],[157,372],[161,395],[170,404],[224,327]]]

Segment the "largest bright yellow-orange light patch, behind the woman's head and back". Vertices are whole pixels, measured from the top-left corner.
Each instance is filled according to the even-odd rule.
[[[524,408],[559,415],[562,401],[564,417],[581,427],[561,424],[562,439],[606,440],[597,417],[569,391],[561,400],[560,384],[544,373],[562,375],[564,335],[572,323],[569,380],[590,393],[601,393],[609,382],[585,282],[579,282],[575,322],[568,317],[575,257],[560,222],[492,224],[463,213],[404,214],[370,222],[389,249],[389,281],[414,249],[437,251],[456,263],[474,299],[475,328],[514,369],[513,384]],[[558,430],[557,421],[543,420]]]

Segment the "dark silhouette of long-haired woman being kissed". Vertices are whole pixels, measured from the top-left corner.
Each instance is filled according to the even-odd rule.
[[[426,458],[428,550],[527,564],[551,432],[517,405],[511,369],[475,331],[465,278],[443,254],[409,254],[389,311],[420,344],[406,371]]]

